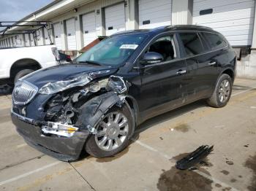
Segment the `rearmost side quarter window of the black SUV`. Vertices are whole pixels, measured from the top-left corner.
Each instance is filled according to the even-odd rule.
[[[227,46],[227,42],[218,34],[202,33],[204,39],[210,44],[211,49],[217,50]]]

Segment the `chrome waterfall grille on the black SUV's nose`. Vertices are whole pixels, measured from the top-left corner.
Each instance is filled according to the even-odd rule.
[[[29,82],[18,81],[15,84],[15,87],[12,92],[12,99],[14,104],[25,105],[34,98],[34,95],[37,94],[38,88],[35,85],[32,85]]]

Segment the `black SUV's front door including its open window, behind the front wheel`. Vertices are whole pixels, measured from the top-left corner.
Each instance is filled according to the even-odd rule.
[[[153,117],[186,102],[184,77],[187,75],[187,66],[179,58],[176,47],[176,37],[170,34],[159,36],[146,49],[146,52],[158,52],[164,59],[142,66],[140,71],[142,85],[138,103],[142,117]]]

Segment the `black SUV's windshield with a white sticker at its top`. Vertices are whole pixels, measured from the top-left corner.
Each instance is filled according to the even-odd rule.
[[[112,36],[91,47],[91,49],[76,58],[75,62],[98,63],[106,66],[121,65],[132,55],[145,37],[145,34]]]

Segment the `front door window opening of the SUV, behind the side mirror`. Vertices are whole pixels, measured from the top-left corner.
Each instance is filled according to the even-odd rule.
[[[163,36],[157,39],[148,48],[148,52],[157,52],[164,58],[163,61],[171,61],[177,58],[173,36]]]

